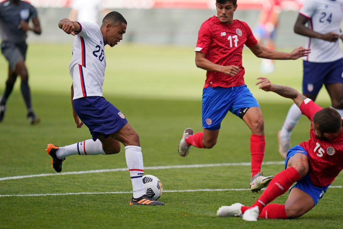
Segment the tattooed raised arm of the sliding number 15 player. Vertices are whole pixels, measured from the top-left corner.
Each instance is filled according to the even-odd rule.
[[[269,79],[264,78],[264,77],[259,77],[257,79],[260,81],[255,83],[255,85],[260,84],[259,89],[262,89],[264,91],[273,91],[276,94],[279,94],[285,98],[292,99],[298,107],[300,107],[301,103],[306,99],[306,97],[303,94],[301,94],[294,88],[283,86],[283,85],[272,84],[269,81]]]

